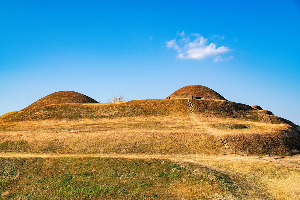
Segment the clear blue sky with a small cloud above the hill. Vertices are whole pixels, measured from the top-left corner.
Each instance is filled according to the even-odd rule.
[[[184,32],[183,32],[184,31]],[[0,1],[0,115],[205,85],[300,124],[299,1]]]

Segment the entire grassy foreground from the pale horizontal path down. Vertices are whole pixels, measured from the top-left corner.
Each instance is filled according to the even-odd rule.
[[[298,169],[256,157],[235,154],[157,158],[126,154],[121,156],[128,158],[42,156],[16,154],[15,158],[0,158],[1,199],[300,198]]]

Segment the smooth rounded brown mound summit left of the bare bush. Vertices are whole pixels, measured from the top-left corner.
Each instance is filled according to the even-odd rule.
[[[98,103],[96,100],[84,94],[73,91],[60,91],[47,95],[46,97],[37,100],[23,110],[33,109],[57,103]]]

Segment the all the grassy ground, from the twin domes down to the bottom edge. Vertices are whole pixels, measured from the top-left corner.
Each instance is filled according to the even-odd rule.
[[[299,154],[299,126],[204,86],[170,97],[62,91],[2,115],[0,199],[300,199],[296,164],[257,159]]]

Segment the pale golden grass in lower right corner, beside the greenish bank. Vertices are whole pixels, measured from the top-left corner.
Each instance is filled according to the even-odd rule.
[[[277,163],[253,159],[234,159],[226,155],[223,159],[201,160],[202,163],[218,166],[220,170],[231,173],[238,179],[247,180],[247,190],[262,193],[271,198],[262,199],[300,199],[300,170]],[[256,194],[257,194],[256,193]],[[253,196],[255,196],[253,194]]]

